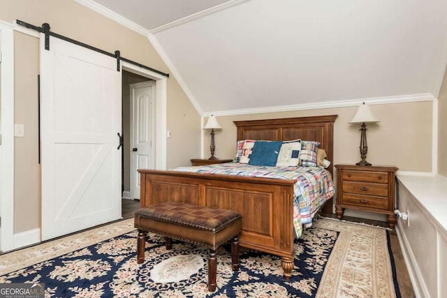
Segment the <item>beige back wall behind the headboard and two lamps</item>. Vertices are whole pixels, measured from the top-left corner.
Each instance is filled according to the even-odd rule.
[[[432,170],[432,102],[371,105],[381,121],[369,124],[367,131],[367,161],[373,165],[395,165],[401,171],[430,172]],[[339,107],[321,110],[247,114],[218,117],[221,131],[217,131],[215,156],[233,158],[235,154],[236,126],[233,121],[305,117],[338,114],[334,126],[334,161],[356,163],[360,161],[360,126],[349,124],[357,107]],[[205,132],[205,156],[210,153],[210,136]],[[427,146],[428,144],[428,146]]]

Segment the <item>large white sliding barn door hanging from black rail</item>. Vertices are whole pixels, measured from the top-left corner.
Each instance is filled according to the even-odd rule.
[[[42,240],[121,218],[121,72],[41,35]]]

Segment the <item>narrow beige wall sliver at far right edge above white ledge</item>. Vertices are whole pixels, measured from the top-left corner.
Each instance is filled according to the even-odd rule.
[[[438,100],[438,173],[447,177],[447,68]]]

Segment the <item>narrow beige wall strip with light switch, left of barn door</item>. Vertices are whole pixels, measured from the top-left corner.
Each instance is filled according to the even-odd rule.
[[[41,166],[38,163],[38,40],[14,34],[16,124],[24,124],[24,137],[14,138],[14,233],[41,225]],[[23,220],[26,218],[26,221]]]

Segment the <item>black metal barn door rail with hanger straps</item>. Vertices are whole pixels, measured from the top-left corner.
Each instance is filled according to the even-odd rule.
[[[36,30],[41,33],[45,33],[45,50],[50,50],[50,36],[53,36],[55,38],[59,38],[61,40],[68,41],[68,43],[74,43],[75,45],[80,45],[81,47],[86,47],[89,50],[93,50],[95,52],[99,52],[101,54],[105,54],[109,57],[113,57],[113,58],[117,59],[117,70],[118,71],[120,70],[119,61],[126,61],[127,63],[133,64],[140,68],[145,68],[147,70],[153,71],[154,73],[158,73],[159,75],[164,75],[165,77],[169,77],[169,73],[163,73],[160,70],[156,70],[149,66],[145,66],[144,64],[140,64],[138,62],[135,62],[130,59],[126,59],[126,58],[122,57],[121,54],[119,53],[119,51],[115,51],[115,53],[110,53],[105,50],[98,49],[98,47],[94,47],[92,45],[87,45],[86,43],[82,43],[78,40],[74,40],[73,38],[69,38],[69,37],[63,36],[61,34],[54,33],[52,31],[50,31],[50,24],[44,23],[44,24],[42,24],[42,27],[37,27],[37,26],[34,26],[33,24],[29,24],[29,23],[23,22],[21,20],[16,20],[16,22],[20,26],[27,27],[28,29],[33,29],[33,30]]]

